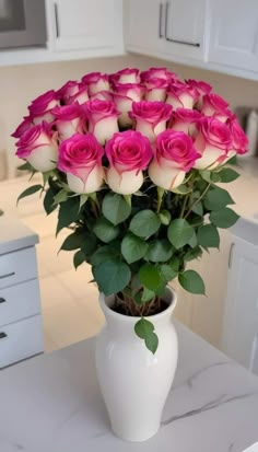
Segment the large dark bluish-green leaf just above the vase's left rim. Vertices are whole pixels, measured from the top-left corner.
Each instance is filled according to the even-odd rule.
[[[118,259],[106,260],[93,267],[93,275],[99,291],[105,295],[119,292],[131,278],[129,266]]]

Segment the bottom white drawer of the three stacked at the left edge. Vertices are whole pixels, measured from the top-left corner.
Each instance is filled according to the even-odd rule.
[[[0,368],[44,350],[42,316],[0,326]]]

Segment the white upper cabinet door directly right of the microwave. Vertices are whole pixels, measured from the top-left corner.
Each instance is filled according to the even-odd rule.
[[[116,0],[56,0],[57,50],[110,47],[115,44]]]

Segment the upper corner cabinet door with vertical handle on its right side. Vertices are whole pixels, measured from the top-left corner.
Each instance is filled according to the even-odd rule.
[[[165,4],[157,0],[125,1],[126,48],[155,55],[164,34]]]

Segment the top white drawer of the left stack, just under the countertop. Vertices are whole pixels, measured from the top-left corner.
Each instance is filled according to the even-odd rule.
[[[35,247],[0,256],[0,289],[37,277]]]

